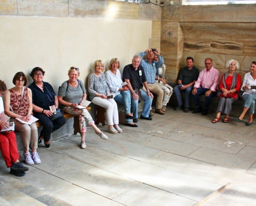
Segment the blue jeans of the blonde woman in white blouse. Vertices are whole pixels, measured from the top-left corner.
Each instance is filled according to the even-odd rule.
[[[131,92],[129,90],[120,92],[114,97],[114,100],[125,105],[125,114],[131,113],[131,101],[134,101],[134,99],[131,100]],[[125,121],[130,124],[132,119],[125,119]]]

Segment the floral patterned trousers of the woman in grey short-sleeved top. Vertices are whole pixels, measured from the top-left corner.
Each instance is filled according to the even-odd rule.
[[[91,114],[87,111],[87,109],[64,107],[63,111],[69,114],[78,114],[79,127],[81,132],[86,132],[86,122],[89,125],[94,124],[93,118]]]

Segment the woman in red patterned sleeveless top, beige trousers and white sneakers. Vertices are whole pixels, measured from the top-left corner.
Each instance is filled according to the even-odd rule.
[[[25,163],[28,165],[39,164],[41,160],[36,151],[38,139],[36,123],[32,123],[31,125],[22,124],[16,119],[19,118],[24,122],[28,122],[31,119],[33,115],[31,89],[23,87],[27,84],[27,78],[23,72],[16,73],[12,83],[15,87],[5,92],[5,113],[11,117],[10,122],[15,123],[15,129],[21,132]],[[23,89],[24,92],[22,95]],[[29,145],[32,153],[29,153]]]

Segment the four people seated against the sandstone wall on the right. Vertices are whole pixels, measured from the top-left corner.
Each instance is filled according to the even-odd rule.
[[[229,114],[232,110],[232,103],[239,97],[239,90],[244,91],[243,99],[245,101],[244,111],[237,119],[242,122],[246,112],[249,110],[249,121],[246,123],[250,126],[252,123],[252,116],[255,109],[256,100],[256,62],[253,61],[250,66],[250,72],[245,74],[242,88],[241,77],[236,73],[239,70],[239,63],[236,60],[229,60],[225,65],[228,70],[224,73],[219,85],[219,71],[213,67],[213,60],[205,59],[205,68],[199,73],[198,68],[194,67],[194,60],[192,57],[187,57],[187,66],[182,68],[178,78],[178,85],[174,88],[174,94],[177,98],[178,106],[174,109],[176,111],[184,109],[184,112],[189,112],[189,100],[193,97],[196,109],[192,113],[200,113],[207,115],[208,108],[212,97],[217,94],[219,97],[219,105],[217,108],[217,115],[213,119],[213,123],[220,121],[220,115],[224,115],[223,122],[229,122]],[[185,107],[181,93],[185,92]],[[204,107],[201,107],[199,96],[205,96]]]

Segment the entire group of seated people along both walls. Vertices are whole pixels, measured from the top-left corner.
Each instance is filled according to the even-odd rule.
[[[145,55],[146,60],[142,59]],[[185,92],[184,112],[189,111],[189,99],[192,95],[197,107],[192,113],[202,112],[202,115],[206,115],[210,100],[217,93],[219,72],[213,67],[213,61],[210,58],[205,59],[206,68],[200,73],[198,68],[193,66],[193,62],[193,58],[188,57],[187,66],[180,71],[178,85],[174,88],[178,102],[178,107],[175,110],[184,108],[180,94]],[[155,112],[161,115],[164,114],[165,106],[172,95],[173,89],[163,77],[158,75],[158,68],[162,64],[163,58],[159,50],[151,48],[133,56],[132,63],[124,67],[123,78],[118,70],[121,65],[117,58],[111,59],[108,66],[109,70],[106,74],[103,73],[104,63],[101,60],[94,62],[94,72],[88,77],[89,98],[93,104],[107,110],[108,132],[112,134],[122,132],[122,129],[118,126],[119,119],[116,102],[125,105],[126,126],[129,127],[138,127],[134,123],[138,122],[138,104],[141,99],[144,100],[144,105],[140,118],[152,120],[152,117],[150,117],[154,114],[151,110],[152,92],[157,95]],[[220,90],[217,93],[220,102],[213,123],[220,120],[221,113],[225,114],[223,122],[229,122],[231,105],[239,96],[240,75],[235,71],[239,68],[239,64],[235,60],[230,60],[226,68],[229,71],[221,77]],[[245,75],[241,89],[244,91],[244,111],[237,119],[237,121],[241,122],[249,109],[247,126],[251,125],[256,99],[256,90],[250,87],[250,85],[255,85],[256,87],[256,62],[252,62],[250,70],[251,72]],[[24,87],[27,84],[27,78],[23,72],[18,72],[14,75],[12,83],[15,87],[9,90],[7,90],[5,82],[0,80],[0,131],[9,128],[8,122],[15,124],[15,129],[21,132],[23,156],[27,165],[41,163],[37,153],[38,144],[43,140],[44,145],[49,148],[51,133],[65,125],[66,118],[63,115],[56,119],[51,118],[54,113],[51,108],[54,106],[57,109],[59,104],[66,113],[79,116],[81,148],[84,149],[86,147],[86,122],[93,127],[95,133],[101,139],[108,139],[108,136],[102,133],[95,125],[91,114],[86,109],[78,108],[86,100],[83,81],[78,79],[80,76],[79,68],[74,66],[69,68],[69,79],[62,83],[57,95],[51,84],[43,81],[44,74],[45,72],[42,68],[33,68],[30,76],[34,81],[28,88]],[[126,85],[124,85],[124,82],[126,82]],[[5,99],[3,102],[1,95],[4,92]],[[204,108],[200,105],[200,95],[205,95]],[[38,135],[35,122],[23,124],[17,120],[18,118],[21,121],[28,122],[32,116],[38,118],[38,122],[42,125],[40,135]],[[28,167],[24,167],[19,161],[16,135],[13,131],[0,132],[0,149],[7,167],[10,167],[10,173],[19,177],[25,175]],[[32,150],[31,153],[29,149]]]

